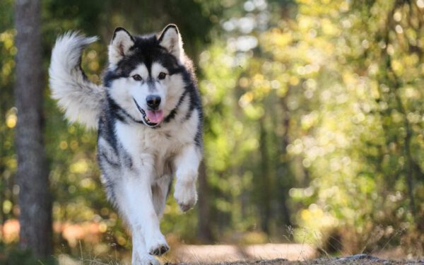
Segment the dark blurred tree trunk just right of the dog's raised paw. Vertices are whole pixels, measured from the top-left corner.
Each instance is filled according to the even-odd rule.
[[[213,235],[211,231],[211,204],[209,202],[209,187],[206,179],[206,166],[202,162],[199,168],[199,239],[203,243],[212,243]]]

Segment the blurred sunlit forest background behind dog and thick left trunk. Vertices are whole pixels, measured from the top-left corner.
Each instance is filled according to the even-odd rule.
[[[13,1],[0,1],[0,17],[1,260],[19,229]],[[44,67],[56,37],[81,30],[100,36],[83,58],[100,82],[115,27],[167,23],[194,60],[205,117],[201,207],[182,214],[170,196],[171,247],[297,242],[423,257],[423,0],[45,0]],[[66,122],[47,86],[44,111],[54,254],[128,257],[131,238],[100,184],[96,132]]]

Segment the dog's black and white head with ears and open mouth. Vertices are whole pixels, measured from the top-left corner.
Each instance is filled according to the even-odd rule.
[[[158,126],[184,93],[183,57],[175,25],[148,37],[133,37],[124,28],[117,28],[105,76],[110,98],[134,119]]]

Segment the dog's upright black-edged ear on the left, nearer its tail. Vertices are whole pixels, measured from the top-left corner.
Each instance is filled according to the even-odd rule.
[[[124,56],[129,55],[129,49],[134,45],[134,37],[124,28],[116,28],[109,45],[109,61],[117,64]]]

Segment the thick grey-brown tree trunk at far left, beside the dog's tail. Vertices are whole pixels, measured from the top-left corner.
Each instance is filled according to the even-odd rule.
[[[31,249],[36,257],[48,257],[52,254],[52,204],[42,139],[40,8],[39,0],[16,0],[16,177],[20,187],[19,245]]]

